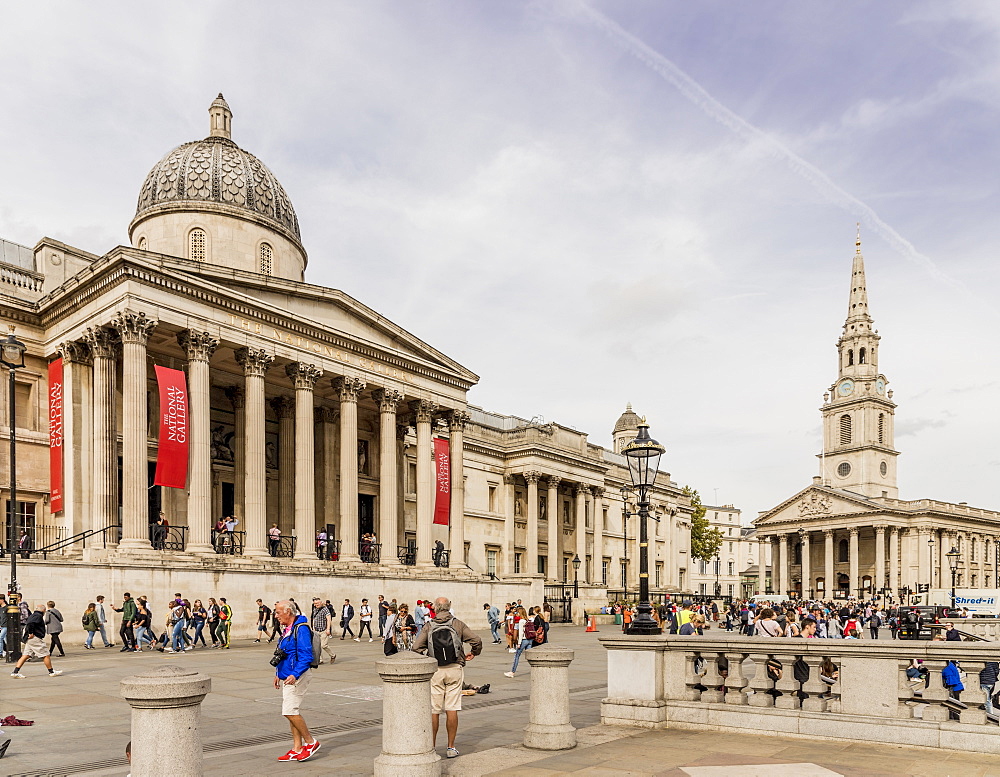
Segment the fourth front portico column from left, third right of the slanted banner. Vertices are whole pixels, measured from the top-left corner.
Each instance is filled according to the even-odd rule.
[[[285,373],[295,386],[295,558],[315,556],[316,437],[313,428],[313,387],[323,376],[314,364],[294,362]]]

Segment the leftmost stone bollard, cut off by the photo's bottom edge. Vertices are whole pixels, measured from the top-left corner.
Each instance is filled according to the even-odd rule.
[[[121,681],[132,708],[132,777],[201,775],[201,702],[211,690],[210,677],[179,666]]]

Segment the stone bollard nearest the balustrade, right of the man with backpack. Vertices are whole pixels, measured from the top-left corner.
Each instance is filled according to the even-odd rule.
[[[576,728],[569,722],[569,665],[573,651],[539,645],[524,654],[531,665],[531,705],[524,727],[524,746],[535,750],[576,747]]]

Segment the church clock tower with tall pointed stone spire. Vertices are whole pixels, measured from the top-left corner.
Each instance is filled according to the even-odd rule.
[[[823,395],[823,483],[865,496],[896,497],[889,381],[878,370],[878,331],[872,329],[865,289],[865,260],[858,231],[844,332],[837,341],[837,380]]]

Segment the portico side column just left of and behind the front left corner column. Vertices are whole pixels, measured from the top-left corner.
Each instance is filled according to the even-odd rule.
[[[107,329],[88,329],[84,339],[94,357],[94,466],[90,529],[118,525],[118,433],[115,424],[115,357],[117,344]],[[118,532],[109,531],[112,547]]]

